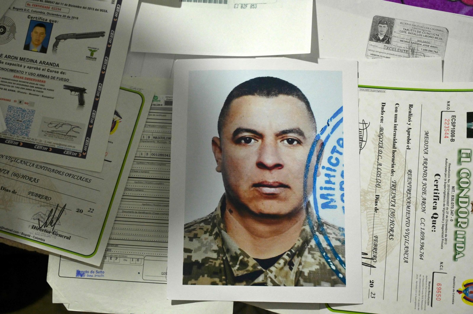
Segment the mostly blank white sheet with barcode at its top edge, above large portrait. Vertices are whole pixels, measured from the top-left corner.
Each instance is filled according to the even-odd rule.
[[[131,51],[225,56],[310,52],[312,0],[190,2],[143,1]]]

